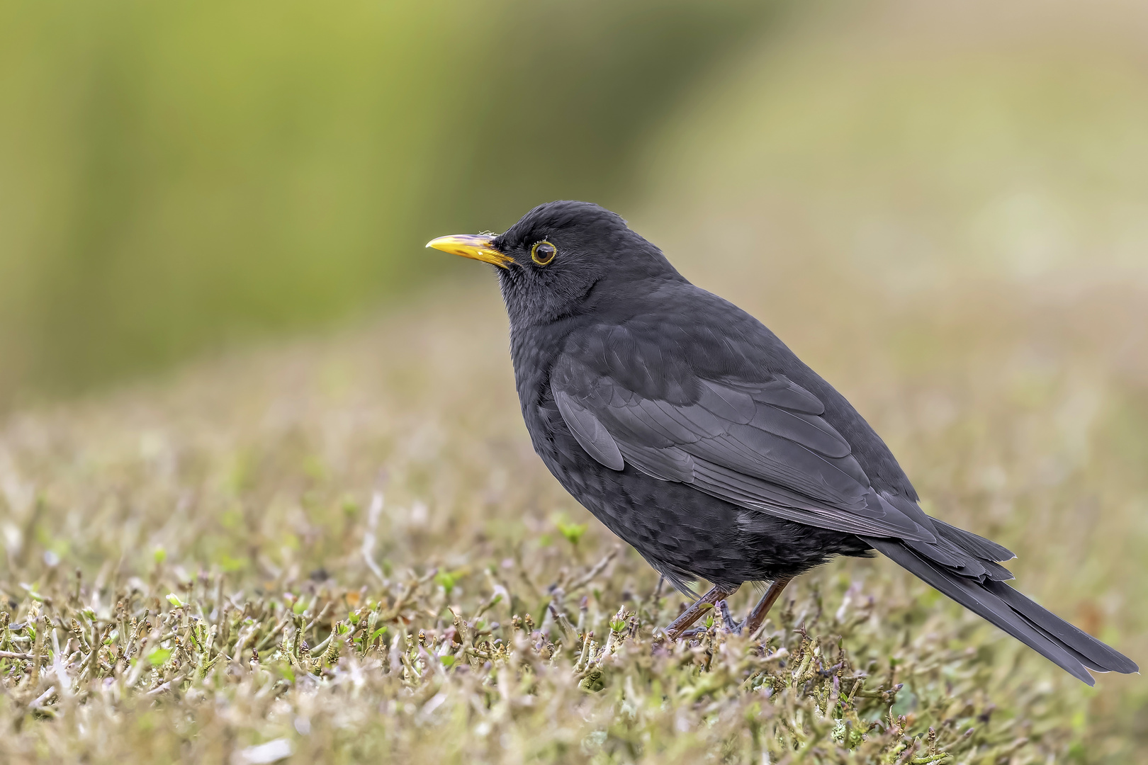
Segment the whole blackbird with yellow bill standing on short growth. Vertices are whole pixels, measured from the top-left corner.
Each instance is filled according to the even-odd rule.
[[[1004,584],[1004,547],[930,517],[869,423],[776,335],[695,287],[619,216],[551,202],[499,235],[427,244],[497,266],[534,448],[571,494],[683,592],[782,588],[877,549],[1088,685],[1137,672]]]

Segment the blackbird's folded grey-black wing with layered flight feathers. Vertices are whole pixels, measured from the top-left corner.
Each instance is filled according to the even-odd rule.
[[[560,356],[551,392],[563,420],[595,460],[807,525],[946,546],[920,508],[875,491],[824,406],[784,376],[706,380],[678,372],[676,401],[622,384],[602,365]],[[633,378],[633,375],[629,375]]]

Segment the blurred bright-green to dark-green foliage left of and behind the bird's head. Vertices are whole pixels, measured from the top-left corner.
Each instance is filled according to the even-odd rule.
[[[347,314],[619,202],[777,3],[0,0],[0,405]]]

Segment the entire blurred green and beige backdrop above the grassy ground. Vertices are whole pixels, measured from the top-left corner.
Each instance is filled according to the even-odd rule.
[[[551,198],[707,268],[1142,280],[1145,30],[1117,0],[0,0],[0,411],[481,278],[421,244]]]

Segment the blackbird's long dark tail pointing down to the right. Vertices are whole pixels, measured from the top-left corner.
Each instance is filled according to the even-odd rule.
[[[928,551],[910,548],[897,539],[866,538],[866,541],[1088,685],[1095,682],[1088,670],[1124,673],[1139,671],[1127,656],[1038,606],[1000,578],[961,573],[949,564],[932,560],[926,555]]]

